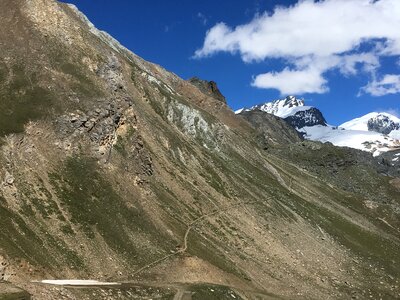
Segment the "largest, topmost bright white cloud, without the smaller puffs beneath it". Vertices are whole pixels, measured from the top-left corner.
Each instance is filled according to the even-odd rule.
[[[267,57],[329,56],[350,51],[369,39],[388,39],[387,51],[400,44],[400,1],[301,1],[278,7],[235,29],[223,23],[207,33],[198,57],[238,51],[245,61]],[[397,54],[400,54],[400,49]]]

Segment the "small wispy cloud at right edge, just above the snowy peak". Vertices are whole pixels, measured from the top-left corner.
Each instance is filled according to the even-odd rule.
[[[363,93],[376,97],[400,93],[400,75],[388,74],[381,80],[374,79],[361,89],[359,95]]]

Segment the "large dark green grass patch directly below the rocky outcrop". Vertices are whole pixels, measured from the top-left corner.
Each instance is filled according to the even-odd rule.
[[[154,248],[168,246],[143,211],[127,207],[101,174],[94,159],[70,157],[59,172],[50,174],[50,178],[58,198],[71,216],[71,222],[80,226],[89,238],[94,238],[98,232],[111,249],[128,260],[144,251],[132,238],[136,234],[147,235],[154,242]],[[67,228],[64,230],[69,231]]]

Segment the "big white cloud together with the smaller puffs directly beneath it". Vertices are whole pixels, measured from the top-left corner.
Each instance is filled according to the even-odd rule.
[[[372,74],[379,68],[379,57],[399,56],[398,28],[399,0],[303,0],[276,7],[271,14],[256,15],[235,28],[216,24],[195,57],[228,52],[239,54],[245,62],[283,58],[289,69],[261,74],[253,85],[285,93],[287,88],[278,79],[290,75],[300,82],[298,74],[302,74],[313,81],[293,90],[321,93],[328,90],[323,78],[328,70],[338,69],[345,76],[359,71]],[[368,47],[362,47],[367,43]],[[365,52],[367,48],[370,50]]]

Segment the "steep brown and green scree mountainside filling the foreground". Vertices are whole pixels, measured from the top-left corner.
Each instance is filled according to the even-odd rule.
[[[389,169],[295,138],[265,151],[72,6],[1,1],[0,41],[3,279],[37,299],[398,297]]]

